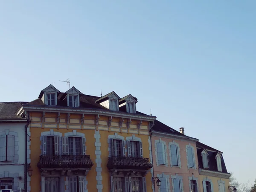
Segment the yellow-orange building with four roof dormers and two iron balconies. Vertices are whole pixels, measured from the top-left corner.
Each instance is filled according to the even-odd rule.
[[[49,85],[18,116],[29,118],[28,192],[152,192],[149,130],[137,98],[97,97]]]

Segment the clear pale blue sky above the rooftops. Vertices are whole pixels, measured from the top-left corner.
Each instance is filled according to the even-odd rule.
[[[132,94],[137,110],[256,170],[256,1],[0,1],[0,102],[59,80],[83,94]]]

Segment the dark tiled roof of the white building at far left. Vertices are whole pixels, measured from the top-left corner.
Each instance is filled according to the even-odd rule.
[[[21,116],[17,116],[16,112],[21,105],[27,102],[4,102],[0,103],[0,119],[23,119]]]

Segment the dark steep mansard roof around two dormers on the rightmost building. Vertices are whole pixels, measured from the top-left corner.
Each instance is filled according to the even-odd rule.
[[[200,142],[197,142],[196,145],[198,147],[197,154],[198,154],[198,166],[199,166],[199,168],[204,169],[201,152],[204,149],[206,149],[208,154],[209,154],[209,156],[208,156],[208,159],[209,159],[209,169],[208,170],[209,171],[218,172],[217,162],[216,162],[215,157],[218,154],[218,152],[220,152],[220,151],[218,151],[218,150],[216,150],[214,148],[211,148],[208,145],[205,145],[205,144],[200,143]],[[211,150],[211,151],[208,151],[208,150]],[[221,157],[222,157],[221,158],[222,173],[228,173],[222,154],[221,154]]]

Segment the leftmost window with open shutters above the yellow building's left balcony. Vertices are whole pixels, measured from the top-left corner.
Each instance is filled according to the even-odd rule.
[[[59,154],[59,137],[43,136],[43,154],[57,155]]]

